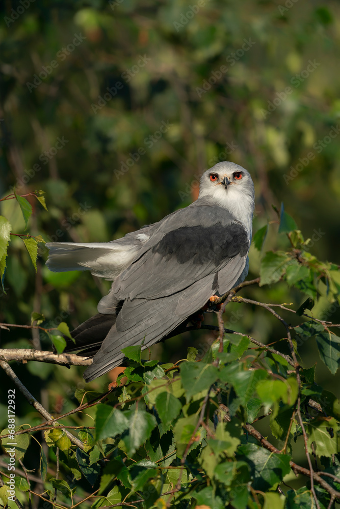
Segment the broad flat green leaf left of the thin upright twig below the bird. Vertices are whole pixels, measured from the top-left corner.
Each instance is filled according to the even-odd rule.
[[[182,362],[180,377],[186,391],[187,402],[202,390],[208,390],[219,378],[218,369],[212,364],[204,362]]]

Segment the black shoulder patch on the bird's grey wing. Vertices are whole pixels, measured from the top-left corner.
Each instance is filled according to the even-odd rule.
[[[175,256],[178,263],[189,260],[196,265],[213,262],[218,266],[225,258],[237,254],[245,256],[249,239],[242,224],[232,222],[227,226],[216,223],[211,227],[182,227],[164,235],[152,248],[153,253],[162,257]]]

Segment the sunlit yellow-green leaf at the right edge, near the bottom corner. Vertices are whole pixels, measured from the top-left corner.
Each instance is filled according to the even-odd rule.
[[[309,422],[307,428],[309,453],[312,454],[312,442],[315,443],[315,451],[319,457],[330,457],[332,454],[339,453],[338,430],[338,424],[333,417],[319,417]]]

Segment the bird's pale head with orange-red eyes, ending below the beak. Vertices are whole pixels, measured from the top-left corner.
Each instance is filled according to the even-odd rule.
[[[229,208],[236,201],[254,203],[254,184],[249,172],[233,162],[219,162],[203,173],[199,198]]]

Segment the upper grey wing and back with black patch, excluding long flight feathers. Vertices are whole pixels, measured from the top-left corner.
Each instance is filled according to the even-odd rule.
[[[158,299],[217,273],[227,263],[232,281],[233,265],[245,264],[249,243],[243,224],[222,207],[181,209],[160,222],[138,257],[117,277],[112,293],[118,300]]]

